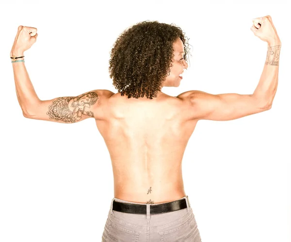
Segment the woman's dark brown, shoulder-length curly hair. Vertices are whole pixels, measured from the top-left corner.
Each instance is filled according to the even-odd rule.
[[[173,43],[178,38],[183,42],[187,61],[189,39],[173,23],[143,21],[118,36],[110,53],[109,73],[121,96],[157,97],[162,82],[169,75],[174,57]]]

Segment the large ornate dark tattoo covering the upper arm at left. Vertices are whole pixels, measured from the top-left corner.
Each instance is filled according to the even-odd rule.
[[[95,92],[88,92],[77,97],[58,97],[49,106],[48,115],[50,119],[75,123],[82,118],[82,114],[94,117],[89,110],[91,105],[96,103],[98,95]]]

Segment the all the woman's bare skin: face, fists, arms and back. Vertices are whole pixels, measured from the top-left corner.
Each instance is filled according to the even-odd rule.
[[[261,28],[271,29],[271,17],[264,19]],[[40,100],[24,62],[15,62],[12,65],[17,99],[27,118],[67,124],[95,118],[110,153],[116,198],[139,203],[177,200],[186,195],[181,163],[198,120],[233,120],[272,107],[281,41],[276,34],[263,35],[254,27],[253,32],[268,42],[268,52],[259,84],[250,95],[212,95],[193,90],[171,97],[159,91],[153,99],[136,99],[109,90],[92,90],[74,97]],[[23,49],[35,42],[35,33],[34,28],[19,26],[11,56],[23,56]],[[17,46],[19,38],[19,43],[26,43],[22,49]],[[180,39],[173,49],[173,66],[163,86],[179,86],[179,75],[188,67]]]

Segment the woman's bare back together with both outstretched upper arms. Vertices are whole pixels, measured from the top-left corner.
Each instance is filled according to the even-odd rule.
[[[39,100],[25,116],[63,123],[95,118],[111,156],[114,196],[162,203],[186,195],[181,163],[198,120],[233,120],[267,111],[270,103],[256,95],[235,93],[192,90],[171,97],[158,92],[148,99],[101,89]]]

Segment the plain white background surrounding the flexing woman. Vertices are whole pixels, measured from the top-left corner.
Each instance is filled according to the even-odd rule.
[[[110,156],[94,119],[60,124],[22,115],[9,58],[19,25],[38,29],[25,65],[42,100],[94,89],[116,93],[109,52],[121,32],[144,20],[175,23],[192,45],[180,86],[164,87],[164,93],[251,94],[267,43],[250,28],[253,18],[266,15],[282,42],[272,109],[232,121],[199,121],[184,154],[183,178],[203,242],[291,242],[290,6],[25,2],[0,3],[1,242],[101,241],[113,198]]]

